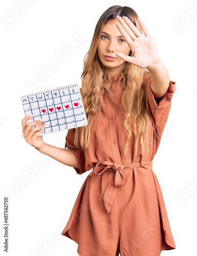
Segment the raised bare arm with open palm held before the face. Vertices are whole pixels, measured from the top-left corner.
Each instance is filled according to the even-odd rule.
[[[131,20],[123,17],[118,16],[116,27],[132,51],[132,57],[119,52],[116,55],[140,68],[146,68],[150,73],[151,90],[154,97],[161,98],[168,90],[170,79],[167,69],[160,60],[155,40],[141,18],[139,24],[145,36],[140,33]]]

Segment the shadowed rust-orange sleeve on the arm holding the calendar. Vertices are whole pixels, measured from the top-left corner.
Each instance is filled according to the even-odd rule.
[[[75,128],[69,129],[67,136],[65,137],[65,147],[67,147],[70,151],[73,152],[77,159],[77,163],[79,168],[75,168],[77,174],[83,174],[86,172],[85,170],[85,154],[81,147],[76,147],[74,145],[74,137],[75,136]]]

